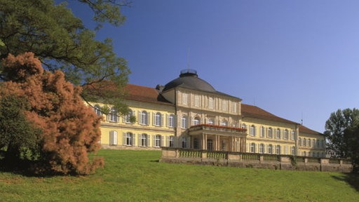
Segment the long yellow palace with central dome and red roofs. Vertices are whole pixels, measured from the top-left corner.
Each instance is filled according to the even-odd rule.
[[[212,151],[325,156],[323,134],[242,104],[186,69],[177,79],[156,88],[128,84],[124,102],[101,123],[101,144],[113,149],[181,147]],[[101,103],[93,103],[99,116]]]

